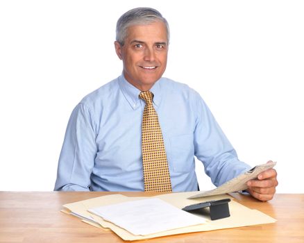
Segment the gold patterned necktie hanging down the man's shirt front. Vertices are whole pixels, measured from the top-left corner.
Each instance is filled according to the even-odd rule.
[[[170,173],[158,114],[153,107],[153,93],[141,92],[146,102],[142,117],[142,163],[146,192],[171,192]]]

